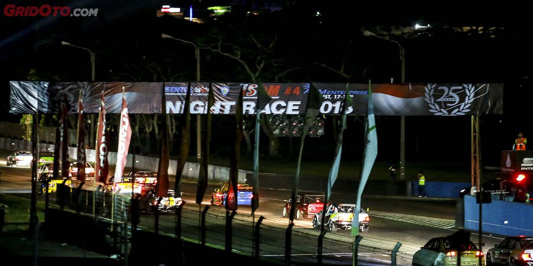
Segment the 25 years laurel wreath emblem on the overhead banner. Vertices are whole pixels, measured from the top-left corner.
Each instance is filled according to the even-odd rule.
[[[424,99],[430,107],[429,111],[434,115],[465,115],[471,111],[470,106],[475,99],[488,93],[488,86],[484,93],[478,93],[484,86],[486,85],[476,88],[472,84],[463,84],[437,87],[437,84],[427,84]],[[435,99],[434,96],[440,97]]]

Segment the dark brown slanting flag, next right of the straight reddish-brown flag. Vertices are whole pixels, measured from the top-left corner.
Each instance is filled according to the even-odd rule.
[[[187,95],[185,96],[185,104],[183,105],[183,115],[181,117],[181,140],[180,140],[180,157],[177,159],[176,167],[176,181],[174,184],[174,191],[180,195],[180,180],[185,167],[185,161],[189,155],[189,132],[191,131],[191,83],[187,87]],[[161,196],[161,195],[159,195]]]

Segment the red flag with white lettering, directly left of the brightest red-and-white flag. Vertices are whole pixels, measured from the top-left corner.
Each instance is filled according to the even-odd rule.
[[[100,103],[100,115],[98,117],[98,131],[96,133],[96,181],[106,182],[109,173],[109,162],[107,160],[107,139],[106,139],[106,108],[104,106],[102,93],[102,102]]]

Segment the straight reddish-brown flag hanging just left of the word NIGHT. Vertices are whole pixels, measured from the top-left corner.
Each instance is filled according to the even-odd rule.
[[[157,195],[166,195],[168,192],[168,164],[170,163],[170,155],[168,152],[168,115],[166,114],[166,100],[165,100],[165,86],[163,86],[163,97],[161,104],[163,104],[163,129],[161,129],[161,150],[159,154],[159,164],[157,166]],[[177,194],[180,195],[180,194]]]

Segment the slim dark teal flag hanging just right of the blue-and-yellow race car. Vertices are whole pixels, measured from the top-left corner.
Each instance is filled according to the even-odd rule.
[[[252,213],[259,208],[259,132],[261,131],[260,114],[272,97],[259,81],[257,85],[257,111],[255,112],[255,140],[254,140],[254,177],[252,179]]]

